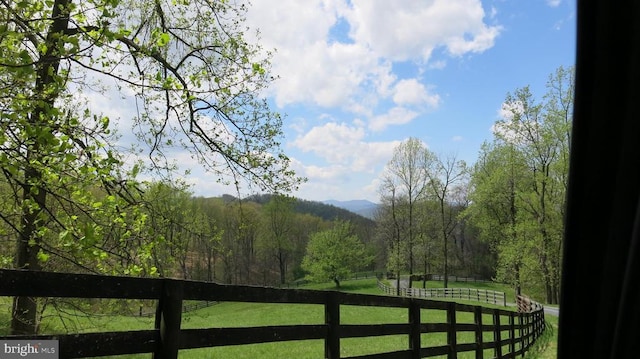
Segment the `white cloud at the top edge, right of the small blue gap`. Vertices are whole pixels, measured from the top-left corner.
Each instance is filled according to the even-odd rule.
[[[354,0],[346,15],[351,36],[381,57],[427,62],[436,47],[453,55],[493,46],[501,28],[487,26],[479,0]]]

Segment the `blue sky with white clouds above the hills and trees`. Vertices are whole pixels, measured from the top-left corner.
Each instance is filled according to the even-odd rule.
[[[378,202],[409,137],[473,164],[507,93],[541,99],[575,62],[575,1],[253,0],[247,25],[275,50],[265,96],[307,178],[291,194],[313,201]],[[197,196],[236,192],[197,168],[187,181]]]

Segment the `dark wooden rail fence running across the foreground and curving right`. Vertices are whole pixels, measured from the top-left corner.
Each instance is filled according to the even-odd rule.
[[[177,358],[181,349],[316,339],[323,340],[325,358],[340,358],[344,338],[406,335],[407,349],[351,358],[425,358],[461,352],[493,350],[494,358],[524,354],[544,330],[544,312],[516,313],[455,302],[163,279],[65,274],[0,269],[0,296],[158,299],[155,327],[149,330],[56,335],[3,336],[12,340],[58,340],[60,358],[153,353],[154,358]],[[317,304],[325,320],[313,325],[278,325],[243,328],[181,329],[182,301],[210,300],[253,303]],[[406,308],[408,321],[385,324],[342,324],[340,307]],[[446,313],[446,323],[425,323],[422,309]],[[457,320],[457,313],[472,313],[473,323]],[[484,317],[484,318],[483,318]],[[485,321],[489,317],[491,320]],[[459,333],[471,333],[473,343],[458,343]],[[446,345],[423,347],[423,333],[445,333]],[[484,334],[492,337],[487,341]]]

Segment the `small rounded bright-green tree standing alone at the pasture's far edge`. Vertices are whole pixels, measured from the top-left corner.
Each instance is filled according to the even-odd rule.
[[[333,281],[339,288],[340,280],[370,262],[364,245],[352,234],[349,222],[337,222],[332,229],[311,235],[302,269],[309,273],[312,281]]]

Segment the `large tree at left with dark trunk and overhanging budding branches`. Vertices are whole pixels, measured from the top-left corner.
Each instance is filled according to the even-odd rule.
[[[121,170],[112,122],[88,100],[102,95],[96,89],[135,97],[137,115],[126,120],[152,169],[171,169],[165,154],[179,145],[232,184],[298,183],[278,148],[281,120],[258,96],[271,80],[268,56],[243,37],[245,10],[209,0],[0,0],[0,167],[10,201],[0,220],[16,238],[15,268],[54,269],[45,264],[56,256],[81,270],[152,271],[139,261],[150,256],[135,253],[149,240],[136,215],[139,167]],[[37,331],[36,305],[15,298],[12,333]]]

